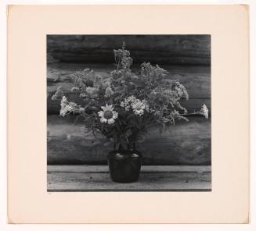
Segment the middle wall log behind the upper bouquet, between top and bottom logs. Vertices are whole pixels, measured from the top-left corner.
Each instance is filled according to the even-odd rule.
[[[182,105],[189,111],[199,110],[202,104],[206,104],[211,113],[211,70],[207,66],[163,66],[175,80],[180,80],[186,86],[189,92],[189,101],[183,100]],[[79,99],[70,90],[74,85],[71,83],[70,74],[74,71],[82,71],[85,68],[94,69],[96,74],[108,76],[113,70],[112,65],[106,64],[67,64],[52,63],[47,68],[47,112],[58,114],[60,101],[52,101],[51,97],[58,86],[62,86],[63,92],[70,98],[70,101],[76,101],[83,105],[82,99]],[[135,72],[139,66],[135,66]]]

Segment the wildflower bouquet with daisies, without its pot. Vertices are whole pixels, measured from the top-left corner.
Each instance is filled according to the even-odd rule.
[[[72,74],[71,89],[83,105],[69,101],[61,87],[52,100],[61,99],[60,116],[74,113],[85,121],[94,134],[102,133],[114,143],[114,149],[127,150],[145,136],[150,126],[174,125],[175,120],[188,121],[188,115],[208,118],[206,105],[193,113],[182,107],[189,94],[178,80],[171,80],[160,66],[143,62],[139,74],[132,73],[132,58],[123,44],[114,50],[114,70],[103,78],[91,69]]]

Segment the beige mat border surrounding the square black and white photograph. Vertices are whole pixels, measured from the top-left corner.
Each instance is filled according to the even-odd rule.
[[[46,34],[211,34],[212,191],[47,193]],[[10,5],[10,223],[247,223],[247,5]]]

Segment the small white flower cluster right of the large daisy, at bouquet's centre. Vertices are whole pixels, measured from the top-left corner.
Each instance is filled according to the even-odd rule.
[[[135,113],[135,115],[142,116],[144,114],[144,111],[146,112],[150,111],[150,107],[146,100],[139,100],[138,98],[135,98],[135,96],[129,96],[128,98],[124,98],[124,101],[121,101],[121,107],[125,109],[125,111],[129,111],[132,109],[132,111]]]

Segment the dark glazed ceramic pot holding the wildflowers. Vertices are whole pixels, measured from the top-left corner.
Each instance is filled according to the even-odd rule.
[[[132,183],[139,179],[142,155],[139,151],[110,151],[107,155],[110,176],[114,182]]]

